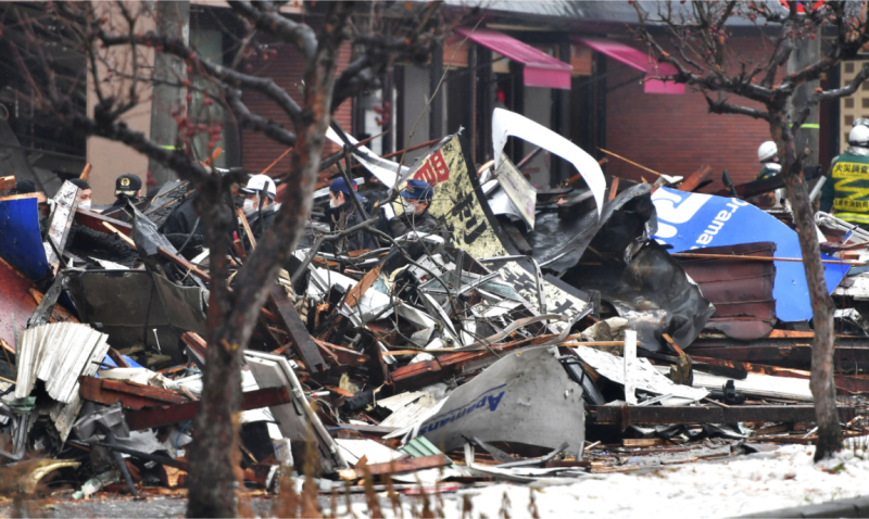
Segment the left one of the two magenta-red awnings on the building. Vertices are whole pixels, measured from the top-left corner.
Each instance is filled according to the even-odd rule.
[[[564,63],[498,30],[459,27],[455,31],[467,36],[475,43],[524,64],[526,87],[570,90],[570,73],[574,67],[569,63]]]

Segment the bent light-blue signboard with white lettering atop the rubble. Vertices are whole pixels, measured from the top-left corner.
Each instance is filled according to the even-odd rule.
[[[672,252],[707,246],[771,241],[776,257],[803,257],[796,232],[754,205],[739,199],[687,193],[659,188],[652,195],[658,216],[655,239],[672,245]],[[835,260],[822,254],[824,260]],[[824,265],[827,290],[832,292],[845,277],[847,265]],[[808,320],[811,304],[802,263],[776,262],[776,317],[783,321]]]

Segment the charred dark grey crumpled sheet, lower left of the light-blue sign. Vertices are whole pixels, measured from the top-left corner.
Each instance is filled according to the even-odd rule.
[[[600,291],[601,299],[637,330],[639,344],[653,352],[663,350],[663,333],[679,347],[688,347],[715,313],[715,306],[689,281],[675,258],[655,242],[647,242],[627,266],[581,265],[563,279],[583,290]]]

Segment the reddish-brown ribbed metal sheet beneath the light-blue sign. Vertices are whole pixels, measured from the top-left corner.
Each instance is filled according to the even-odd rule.
[[[772,242],[710,246],[704,254],[766,256],[776,253]],[[715,305],[706,328],[748,341],[766,337],[776,324],[773,262],[680,257],[679,265],[700,286],[703,296]]]

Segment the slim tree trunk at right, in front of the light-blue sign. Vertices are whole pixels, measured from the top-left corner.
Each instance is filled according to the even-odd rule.
[[[772,111],[770,110],[770,114]],[[808,189],[803,177],[803,163],[794,144],[794,136],[784,112],[771,123],[772,134],[779,142],[784,159],[788,198],[794,213],[794,224],[799,236],[803,266],[806,269],[808,293],[814,313],[815,341],[811,345],[811,395],[815,398],[815,419],[818,425],[818,446],[815,460],[832,456],[842,446],[842,430],[835,401],[833,380],[833,300],[827,292],[821,250],[815,231],[815,217],[808,200]]]

